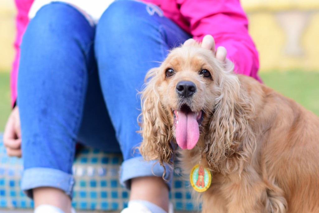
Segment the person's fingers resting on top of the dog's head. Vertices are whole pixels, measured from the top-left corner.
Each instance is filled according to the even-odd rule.
[[[197,43],[197,42],[194,39],[190,38],[186,40],[183,45],[192,46],[194,45],[194,43]],[[230,61],[228,58],[226,58],[227,50],[225,49],[225,47],[220,46],[215,50],[215,40],[213,36],[205,35],[201,43],[201,47],[212,50],[215,57],[221,62],[224,62],[226,68],[231,68],[234,66],[234,63]]]

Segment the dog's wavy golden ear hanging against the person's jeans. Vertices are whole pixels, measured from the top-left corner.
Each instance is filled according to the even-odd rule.
[[[151,69],[145,77],[145,87],[141,91],[142,113],[139,116],[143,141],[139,147],[146,160],[172,164],[173,148],[171,127],[167,112],[162,106],[158,93],[161,75],[159,68]],[[147,81],[148,80],[148,81]]]

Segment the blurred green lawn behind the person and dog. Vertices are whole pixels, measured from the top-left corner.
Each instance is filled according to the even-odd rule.
[[[260,73],[264,83],[319,116],[319,72],[269,71]],[[0,71],[0,132],[10,114],[9,72]]]

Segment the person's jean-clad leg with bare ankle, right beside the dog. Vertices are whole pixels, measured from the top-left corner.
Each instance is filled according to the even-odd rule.
[[[101,87],[124,158],[120,181],[131,189],[130,200],[150,201],[166,211],[172,171],[166,167],[164,181],[159,164],[145,162],[134,152],[142,141],[136,133],[141,107],[137,91],[146,72],[189,38],[156,6],[128,0],[109,6],[95,37]]]

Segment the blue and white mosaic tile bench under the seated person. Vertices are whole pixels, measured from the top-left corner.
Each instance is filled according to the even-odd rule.
[[[122,156],[106,154],[98,149],[84,148],[75,159],[73,174],[76,178],[73,207],[78,210],[120,210],[127,206],[129,192],[118,181]],[[1,209],[28,209],[31,199],[20,190],[22,160],[8,157],[3,135],[0,133],[0,212]],[[188,181],[175,169],[171,201],[175,210],[196,211]]]

